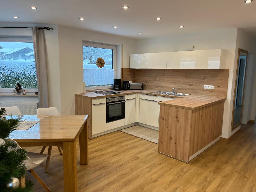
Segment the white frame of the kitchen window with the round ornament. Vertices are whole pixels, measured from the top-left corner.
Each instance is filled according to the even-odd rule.
[[[102,48],[102,49],[112,49],[113,50],[113,69],[116,78],[117,71],[117,55],[116,55],[116,45],[109,44],[101,44],[95,42],[86,42],[83,41],[83,47],[94,47],[94,48]],[[97,87],[86,87],[86,90],[98,90],[98,89],[113,89],[114,86],[97,86]]]

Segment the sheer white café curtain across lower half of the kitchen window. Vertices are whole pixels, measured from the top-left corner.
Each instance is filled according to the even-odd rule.
[[[83,69],[83,81],[86,86],[113,85],[114,69]]]

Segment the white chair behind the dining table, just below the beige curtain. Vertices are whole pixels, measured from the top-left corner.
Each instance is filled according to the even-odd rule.
[[[39,108],[37,109],[37,116],[59,116],[59,111],[56,107],[50,107],[50,108]],[[43,154],[46,147],[43,147],[40,154]],[[51,158],[51,150],[52,146],[48,146],[48,157],[45,165],[45,173],[48,171],[48,167],[50,164],[50,158]],[[58,146],[58,150],[60,152],[60,155],[63,153],[63,149]]]

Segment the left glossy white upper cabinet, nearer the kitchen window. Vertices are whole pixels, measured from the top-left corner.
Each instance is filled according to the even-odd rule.
[[[130,55],[131,69],[166,69],[167,53]]]

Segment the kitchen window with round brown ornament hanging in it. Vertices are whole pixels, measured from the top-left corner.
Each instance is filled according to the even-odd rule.
[[[105,61],[103,68],[98,68],[96,64],[100,57]],[[86,83],[87,89],[98,89],[95,87],[99,86],[111,88],[110,86],[113,86],[115,57],[116,47],[114,46],[83,43],[83,81]]]

